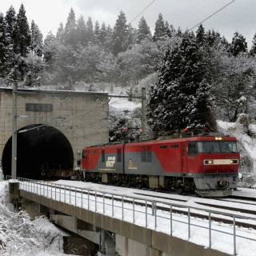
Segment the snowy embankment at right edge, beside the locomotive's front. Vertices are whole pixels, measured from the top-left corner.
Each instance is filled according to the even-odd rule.
[[[256,125],[249,124],[246,115],[241,114],[237,122],[218,121],[218,131],[238,139],[241,152],[239,186],[256,189]]]

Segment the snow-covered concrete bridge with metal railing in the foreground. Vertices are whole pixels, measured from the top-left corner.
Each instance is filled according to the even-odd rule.
[[[210,218],[222,212],[134,197],[129,190],[92,190],[90,182],[62,182],[11,180],[10,202],[29,200],[22,210],[48,214],[58,225],[98,243],[103,255],[248,256],[256,250],[254,231],[236,226],[235,215],[229,215],[233,225],[224,225]],[[187,214],[177,214],[177,209]],[[198,211],[209,218],[192,217]]]

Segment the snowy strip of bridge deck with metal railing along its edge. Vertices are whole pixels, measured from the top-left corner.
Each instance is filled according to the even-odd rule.
[[[10,176],[7,176],[6,179],[10,180]],[[170,236],[174,235],[228,254],[231,251],[233,251],[234,255],[239,254],[237,248],[239,251],[244,250],[246,243],[252,252],[256,250],[256,230],[236,226],[238,219],[246,221],[246,223],[254,222],[255,226],[256,218],[248,215],[228,214],[218,210],[206,210],[178,203],[159,202],[155,199],[54,184],[54,182],[27,178],[17,179],[20,184],[20,190],[26,190],[112,218],[122,219],[125,222],[144,226]],[[199,212],[203,213],[205,218],[192,216]],[[232,224],[215,222],[213,219],[216,216],[229,219]],[[230,236],[232,236],[231,240],[233,242],[230,242]],[[223,244],[225,248],[223,248]]]

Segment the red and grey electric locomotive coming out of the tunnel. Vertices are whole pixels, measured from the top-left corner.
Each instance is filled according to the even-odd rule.
[[[236,138],[216,135],[88,147],[82,169],[86,181],[227,196],[240,154]]]

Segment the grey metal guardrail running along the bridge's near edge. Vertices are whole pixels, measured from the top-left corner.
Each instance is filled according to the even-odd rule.
[[[6,176],[10,181],[10,176]],[[68,203],[70,205],[82,207],[99,214],[107,215],[112,218],[121,218],[122,221],[132,222],[134,224],[145,226],[152,230],[160,230],[163,233],[175,235],[177,229],[184,230],[184,226],[174,225],[180,223],[186,226],[187,240],[191,238],[191,228],[196,227],[202,230],[208,230],[208,247],[212,247],[213,232],[226,234],[233,238],[233,253],[237,254],[237,239],[246,239],[246,241],[254,241],[254,234],[246,233],[239,230],[236,226],[238,219],[246,219],[247,221],[255,221],[256,218],[248,218],[248,216],[238,214],[226,214],[218,210],[206,210],[194,206],[182,206],[180,204],[169,202],[158,202],[145,198],[133,197],[123,194],[114,194],[110,192],[102,192],[76,186],[66,186],[54,184],[54,182],[43,182],[38,180],[30,180],[27,178],[17,178],[20,184],[20,190],[26,190],[34,194],[54,199],[55,201]],[[175,210],[186,210],[186,214],[175,214]],[[205,212],[207,221],[191,217],[192,211]],[[226,231],[225,226],[213,225],[212,218],[216,215],[226,216],[233,220],[233,230]],[[169,223],[168,225],[166,225]],[[219,229],[217,229],[219,227]],[[246,236],[245,236],[246,235]],[[229,238],[226,238],[230,241]],[[205,246],[205,245],[204,245]]]

